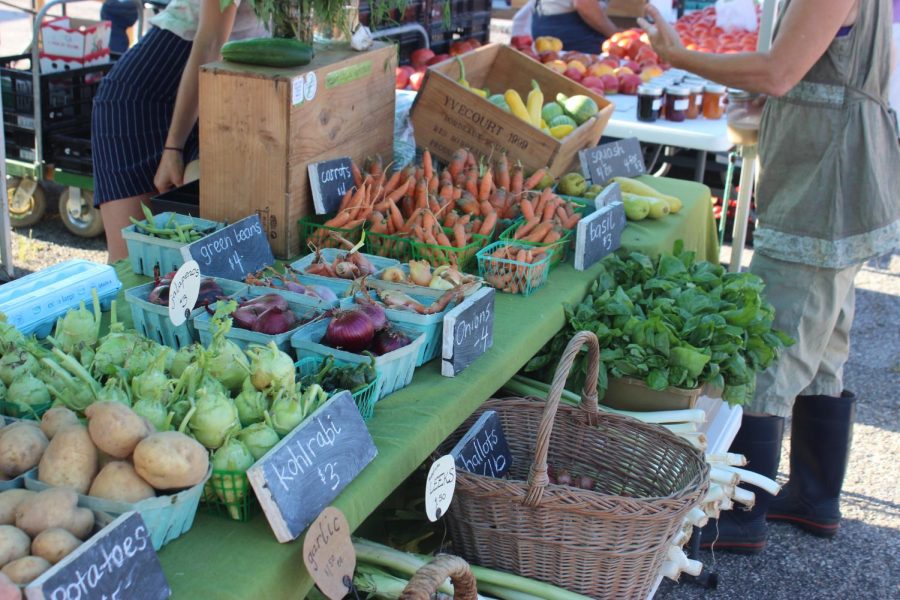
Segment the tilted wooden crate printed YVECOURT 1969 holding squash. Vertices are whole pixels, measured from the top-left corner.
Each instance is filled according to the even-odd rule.
[[[411,109],[416,143],[448,160],[454,150],[470,148],[488,156],[506,151],[529,171],[549,167],[558,176],[578,166],[578,151],[595,146],[613,112],[612,103],[545,67],[524,54],[499,44],[483,46],[461,55],[466,78],[474,87],[491,93],[515,89],[524,101],[532,79],[544,92],[544,102],[562,92],[593,98],[600,112],[582,123],[563,140],[519,120],[457,83],[459,65],[446,61],[428,69],[422,89]]]

